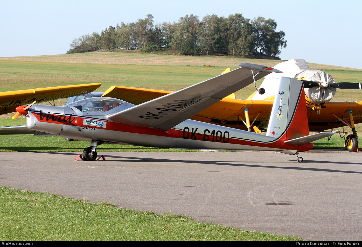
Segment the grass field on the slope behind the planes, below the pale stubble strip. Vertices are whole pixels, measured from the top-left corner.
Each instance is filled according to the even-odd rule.
[[[259,61],[247,62],[256,63]],[[233,66],[232,69],[236,68],[237,63]],[[219,75],[226,68],[227,66],[86,64],[0,60],[0,82],[2,83],[0,91],[93,82],[102,83],[102,86],[97,89],[98,92],[104,92],[113,85],[175,91]],[[362,82],[362,70],[351,71],[334,68],[325,71],[330,73],[336,82]],[[257,82],[258,86],[262,80]],[[249,85],[236,92],[236,97],[246,99],[254,91],[254,85]],[[333,100],[362,100],[361,95],[359,90],[338,90]]]

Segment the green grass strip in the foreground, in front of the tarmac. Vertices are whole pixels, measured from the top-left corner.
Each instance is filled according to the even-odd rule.
[[[117,208],[114,203],[89,203],[9,187],[0,187],[0,204],[3,241],[302,240],[197,222],[189,216],[156,215]]]

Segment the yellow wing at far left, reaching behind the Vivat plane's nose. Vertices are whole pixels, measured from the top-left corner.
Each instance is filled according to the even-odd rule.
[[[30,104],[35,100],[37,103],[44,101],[51,102],[80,94],[88,94],[100,86],[101,83],[90,83],[0,92],[0,114],[15,112],[16,107]]]

